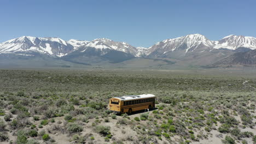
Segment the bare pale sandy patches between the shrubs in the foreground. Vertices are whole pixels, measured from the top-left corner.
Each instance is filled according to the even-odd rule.
[[[9,111],[6,111],[6,113],[9,113]],[[144,111],[133,113],[133,115],[130,115],[129,117],[130,117],[130,119],[134,119],[135,117],[139,117],[141,115],[141,113],[144,113]],[[149,115],[153,115],[152,111],[149,111]],[[253,115],[255,115],[255,113],[253,113]],[[4,121],[3,117],[4,116],[0,116],[0,119],[3,119],[3,121]],[[13,118],[11,118],[11,119],[14,119],[15,117],[16,117],[16,115],[13,115]],[[117,116],[117,119],[112,119],[109,115],[108,118],[109,118],[110,122],[104,122],[104,118],[100,118],[99,120],[101,121],[101,123],[99,123],[98,125],[104,125],[104,126],[109,126],[110,127],[113,137],[109,142],[104,141],[104,136],[101,136],[100,134],[97,134],[97,133],[94,132],[94,130],[93,130],[94,127],[92,127],[92,123],[95,122],[95,120],[96,120],[95,118],[90,119],[89,123],[84,123],[83,124],[84,130],[79,135],[89,135],[89,134],[91,134],[92,136],[95,137],[95,140],[92,141],[93,143],[112,143],[113,140],[121,140],[121,141],[125,140],[125,143],[133,143],[134,142],[134,141],[129,141],[129,140],[132,140],[134,137],[136,137],[136,135],[137,135],[136,131],[132,130],[130,125],[117,124],[118,119],[123,118],[123,117]],[[238,121],[240,121],[240,124],[241,124],[241,118],[239,116],[235,116],[235,118]],[[34,121],[33,117],[30,117],[30,121],[32,123],[36,124],[36,125],[39,125],[39,123],[40,123],[40,121]],[[41,131],[41,130],[45,130],[46,133],[49,134],[48,129],[51,127],[51,125],[57,124],[57,122],[59,122],[59,121],[61,122],[61,125],[63,125],[63,123],[65,123],[64,117],[56,117],[55,118],[55,123],[49,122],[49,124],[44,125],[43,128],[37,128],[38,132]],[[255,123],[255,121],[256,120],[254,118],[253,122]],[[134,123],[147,125],[147,121],[140,121],[140,122],[135,121]],[[218,129],[218,127],[221,124],[218,122],[217,125],[218,126],[216,127],[216,129]],[[8,129],[8,127],[7,127],[7,129]],[[242,129],[241,128],[241,131],[251,131],[254,135],[256,135],[256,129],[255,128],[254,129],[252,129],[252,128]],[[195,130],[195,136],[197,135],[197,133],[198,133],[198,131]],[[208,138],[203,139],[203,140],[200,139],[200,141],[193,141],[191,143],[195,143],[195,144],[197,144],[197,143],[198,144],[199,143],[200,144],[204,144],[204,143],[209,143],[209,144],[222,143],[222,140],[226,136],[226,134],[219,133],[218,130],[212,130],[210,133],[206,133],[206,131],[204,131],[203,134],[207,134]],[[13,136],[13,133],[11,131],[8,131],[8,135],[9,135],[9,142],[10,141],[13,141],[13,142],[16,141],[16,136]],[[69,134],[50,133],[49,135],[50,135],[50,137],[52,137],[56,141],[55,143],[61,143],[61,144],[71,143],[72,136],[70,136]],[[174,135],[174,137],[171,137],[171,140],[173,141],[173,143],[176,143],[175,141],[179,140],[179,138],[180,138],[179,136]],[[40,139],[39,136],[37,137],[37,140],[40,143],[44,143],[44,141],[42,139]],[[248,143],[253,143],[251,138],[244,139],[244,140],[247,140]],[[9,142],[1,142],[1,143],[7,144]],[[162,136],[162,141],[157,140],[157,142],[158,143],[170,143],[165,139],[164,136]],[[237,140],[236,140],[236,142],[241,143],[241,141],[237,141]]]

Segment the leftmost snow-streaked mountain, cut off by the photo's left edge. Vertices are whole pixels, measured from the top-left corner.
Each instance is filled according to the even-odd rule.
[[[74,47],[60,38],[20,37],[5,41],[0,45],[0,53],[39,52],[49,56],[61,57]]]

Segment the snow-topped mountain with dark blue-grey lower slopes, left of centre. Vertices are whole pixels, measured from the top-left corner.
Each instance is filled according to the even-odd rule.
[[[112,63],[126,61],[135,57],[137,54],[136,47],[125,42],[113,41],[102,38],[90,41],[88,44],[80,46],[77,50],[63,57],[66,61],[75,63],[99,63],[108,61]]]

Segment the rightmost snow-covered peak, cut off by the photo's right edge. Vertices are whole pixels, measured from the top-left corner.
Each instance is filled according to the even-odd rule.
[[[230,49],[236,50],[238,47],[247,47],[249,49],[256,49],[256,38],[245,37],[243,35],[229,35],[221,40],[215,41],[214,49]]]

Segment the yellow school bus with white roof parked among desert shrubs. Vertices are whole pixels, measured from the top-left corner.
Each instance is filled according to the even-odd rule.
[[[155,107],[155,95],[126,95],[109,99],[109,110],[114,113],[132,113],[133,111],[153,109]]]

